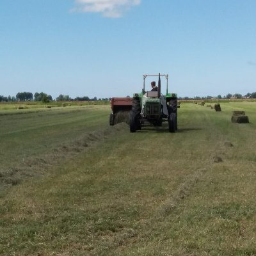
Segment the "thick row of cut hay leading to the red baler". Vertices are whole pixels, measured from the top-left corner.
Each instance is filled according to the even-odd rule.
[[[19,163],[19,168],[0,168],[0,189],[8,188],[22,183],[31,177],[40,177],[63,161],[70,159],[84,150],[89,150],[94,145],[104,143],[104,140],[116,136],[118,132],[127,129],[127,124],[117,124],[98,131],[85,133],[79,139],[61,143],[58,147],[39,157],[27,157]]]

